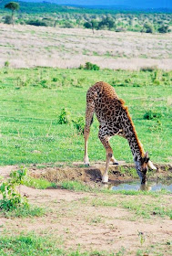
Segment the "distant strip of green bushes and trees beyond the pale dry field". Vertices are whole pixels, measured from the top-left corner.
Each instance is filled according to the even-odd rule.
[[[24,5],[24,4],[21,4]],[[35,6],[31,3],[25,5]],[[46,5],[46,3],[45,3]],[[44,6],[44,5],[43,5]],[[115,14],[102,14],[102,10],[99,14],[90,14],[81,12],[80,14],[76,11],[70,12],[71,10],[60,9],[59,12],[52,12],[52,5],[46,5],[50,9],[47,9],[46,13],[38,12],[35,14],[19,12],[15,15],[16,11],[19,10],[19,4],[10,2],[5,5],[6,9],[11,11],[11,16],[5,15],[2,17],[2,21],[5,24],[22,24],[32,26],[44,26],[44,27],[84,27],[92,29],[93,33],[96,30],[112,30],[116,32],[121,31],[136,31],[144,33],[169,33],[172,26],[172,14],[151,14],[151,13],[115,13]],[[65,8],[65,7],[64,7]],[[64,11],[66,10],[66,11]],[[15,16],[15,19],[14,19]]]

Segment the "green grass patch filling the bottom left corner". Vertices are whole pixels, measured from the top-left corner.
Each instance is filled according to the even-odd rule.
[[[65,251],[58,248],[59,245],[50,238],[43,238],[35,234],[20,235],[18,237],[0,238],[1,256],[113,256],[104,251],[81,252]]]

